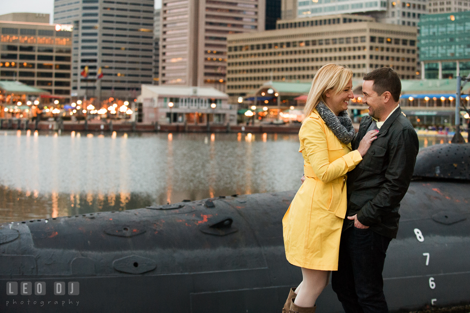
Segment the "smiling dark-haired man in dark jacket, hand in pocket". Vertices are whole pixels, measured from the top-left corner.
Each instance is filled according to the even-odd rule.
[[[396,238],[400,201],[408,190],[418,154],[418,136],[401,113],[401,82],[390,68],[364,76],[362,102],[369,116],[352,142],[357,149],[367,131],[376,129],[361,163],[348,174],[348,213],[341,236],[338,271],[332,287],[346,313],[388,312],[383,294],[385,253]]]

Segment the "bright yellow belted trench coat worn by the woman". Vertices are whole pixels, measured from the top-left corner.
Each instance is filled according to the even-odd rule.
[[[305,181],[282,218],[285,256],[300,267],[338,270],[346,173],[362,157],[336,138],[316,110],[306,119],[299,131]]]

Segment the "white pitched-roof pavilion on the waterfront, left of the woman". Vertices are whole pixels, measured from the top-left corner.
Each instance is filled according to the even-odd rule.
[[[237,105],[213,87],[142,85],[137,121],[143,123],[236,124]]]

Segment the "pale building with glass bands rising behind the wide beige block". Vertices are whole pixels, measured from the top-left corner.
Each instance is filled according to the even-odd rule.
[[[427,0],[298,0],[297,17],[356,13],[372,16],[379,23],[416,26],[427,13],[426,4]]]

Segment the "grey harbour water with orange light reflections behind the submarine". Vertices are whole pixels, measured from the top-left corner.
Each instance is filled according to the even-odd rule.
[[[5,131],[0,145],[2,222],[295,190],[303,174],[296,134]]]

